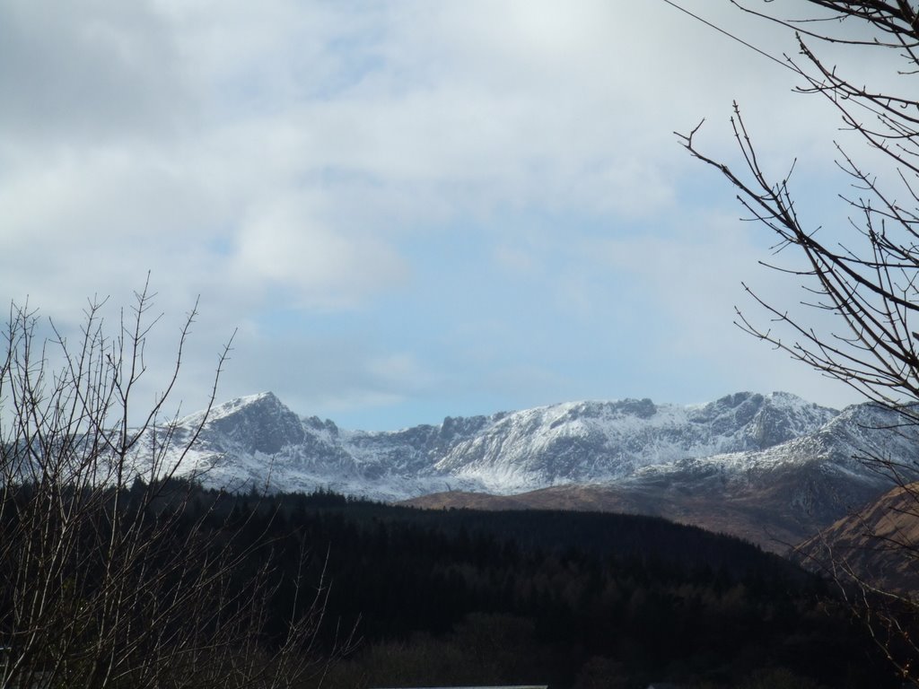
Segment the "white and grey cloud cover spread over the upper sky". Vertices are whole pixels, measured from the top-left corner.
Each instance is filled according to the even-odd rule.
[[[787,34],[730,6],[689,5],[772,52],[792,50]],[[124,300],[151,270],[164,311],[201,294],[201,330],[242,324],[232,386],[260,389],[256,371],[287,381],[297,359],[295,343],[267,336],[266,311],[300,323],[386,308],[422,332],[424,314],[401,305],[417,262],[444,275],[456,262],[450,246],[419,247],[458,234],[490,243],[482,255],[494,261],[445,280],[460,286],[443,295],[445,311],[466,318],[480,308],[470,293],[489,294],[464,280],[510,275],[544,283],[551,308],[596,318],[610,267],[579,252],[602,230],[627,257],[615,269],[638,271],[675,341],[701,351],[731,329],[725,280],[735,285],[748,263],[736,254],[752,263],[760,247],[722,231],[688,239],[710,228],[678,217],[686,186],[703,189],[709,175],[716,191],[704,195],[715,200],[693,199],[698,207],[732,193],[672,131],[708,117],[706,145],[734,156],[736,98],[768,137],[766,164],[823,160],[835,132],[814,99],[789,95],[792,83],[659,3],[81,0],[50,12],[14,0],[0,4],[0,296],[30,294],[67,314],[86,295]],[[681,223],[685,234],[666,234]],[[666,238],[621,238],[635,226]],[[528,309],[548,333],[542,307]],[[380,341],[333,347],[340,404],[408,399],[404,378],[439,379],[404,342],[366,324],[361,333]],[[495,339],[489,347],[504,344]],[[332,399],[335,385],[301,400]]]

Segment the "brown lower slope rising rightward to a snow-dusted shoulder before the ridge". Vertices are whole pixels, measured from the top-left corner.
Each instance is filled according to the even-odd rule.
[[[722,401],[716,402],[716,404]],[[765,449],[647,464],[615,480],[555,485],[490,498],[452,491],[409,501],[427,507],[589,509],[656,514],[784,552],[891,487],[877,460],[915,475],[919,429],[869,404]]]

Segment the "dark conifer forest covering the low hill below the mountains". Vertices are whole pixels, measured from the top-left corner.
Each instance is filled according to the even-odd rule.
[[[147,511],[151,525],[173,514],[168,534],[156,532],[155,557],[143,562],[155,572],[162,558],[168,576],[180,576],[167,576],[151,596],[198,585],[215,558],[232,564],[221,593],[201,600],[240,606],[257,582],[247,643],[266,664],[289,660],[278,649],[291,621],[309,620],[296,652],[323,672],[303,672],[303,689],[320,681],[327,689],[897,685],[832,588],[751,544],[695,527],[618,514],[425,511],[328,492],[231,494],[183,481],[157,488],[151,503],[132,500],[132,491],[150,494],[139,485],[112,493],[110,509]],[[15,530],[15,514],[6,512],[5,528]],[[86,548],[124,523],[100,520]],[[181,570],[170,539],[196,548]],[[85,590],[74,607],[92,595],[87,577],[79,581]],[[5,596],[3,605],[0,645],[9,645],[16,602]]]

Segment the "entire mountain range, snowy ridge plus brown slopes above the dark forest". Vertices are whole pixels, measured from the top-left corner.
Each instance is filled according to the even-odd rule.
[[[919,434],[889,430],[891,413],[742,392],[694,406],[568,402],[367,432],[299,417],[263,393],[212,410],[183,470],[235,490],[659,514],[780,550],[890,487],[854,457],[866,448],[915,456]],[[200,419],[182,420],[177,437]],[[446,494],[416,500],[432,493]]]

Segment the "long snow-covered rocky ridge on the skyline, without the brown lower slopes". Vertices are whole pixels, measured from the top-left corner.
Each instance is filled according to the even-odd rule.
[[[235,490],[324,487],[382,500],[444,490],[510,493],[627,480],[687,458],[760,451],[813,434],[838,414],[787,393],[743,392],[689,407],[569,402],[374,433],[300,418],[267,392],[212,409],[183,470],[206,470],[206,484]],[[190,437],[202,418],[181,420],[176,437]]]

